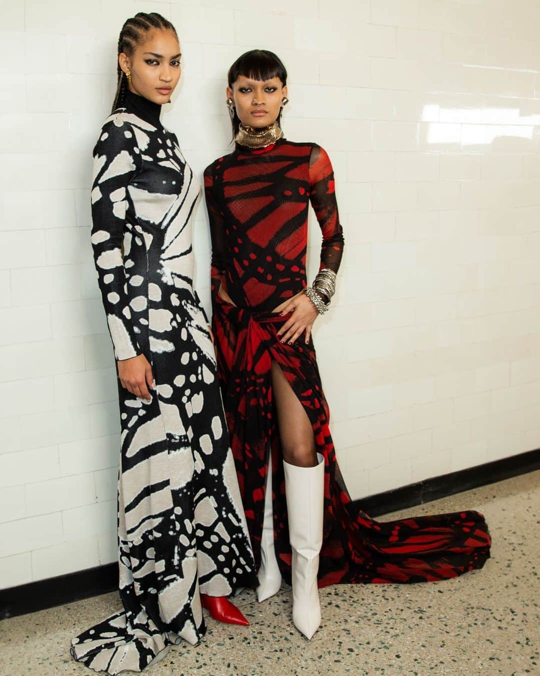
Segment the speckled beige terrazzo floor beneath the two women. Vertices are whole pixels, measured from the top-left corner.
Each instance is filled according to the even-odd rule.
[[[489,523],[492,558],[481,571],[321,589],[323,622],[310,642],[292,625],[290,588],[263,604],[243,592],[236,604],[249,627],[209,620],[198,646],[173,646],[148,674],[540,674],[540,471],[391,516],[461,508]],[[94,673],[70,657],[70,639],[117,608],[112,593],[0,622],[1,676]]]

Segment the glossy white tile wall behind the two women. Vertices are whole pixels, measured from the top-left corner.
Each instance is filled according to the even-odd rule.
[[[178,27],[164,122],[199,177],[229,147],[227,66],[255,46],[288,66],[286,135],[331,155],[346,250],[315,341],[352,497],[540,445],[535,0],[0,4],[0,588],[116,556],[88,187],[136,11]],[[313,217],[309,243],[313,274]],[[202,201],[194,246],[209,310]]]

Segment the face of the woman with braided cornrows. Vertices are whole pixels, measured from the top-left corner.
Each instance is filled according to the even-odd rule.
[[[131,72],[131,91],[154,103],[167,103],[180,79],[180,57],[172,30],[155,30],[132,55],[119,54],[118,62],[124,72]]]

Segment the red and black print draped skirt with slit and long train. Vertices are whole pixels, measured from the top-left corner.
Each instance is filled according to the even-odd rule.
[[[281,573],[291,582],[285,477],[272,401],[271,361],[275,360],[304,406],[317,452],[324,456],[319,587],[437,581],[481,568],[489,558],[491,538],[479,512],[375,521],[352,502],[335,457],[313,341],[306,345],[298,339],[287,345],[277,337],[288,316],[239,308],[219,295],[215,298],[213,330],[219,379],[257,567],[271,450],[275,550]]]

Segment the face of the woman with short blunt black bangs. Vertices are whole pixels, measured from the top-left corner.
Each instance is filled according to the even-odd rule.
[[[265,127],[277,120],[281,103],[287,96],[287,87],[277,77],[271,80],[252,80],[244,75],[232,87],[227,87],[236,114],[244,126]]]

